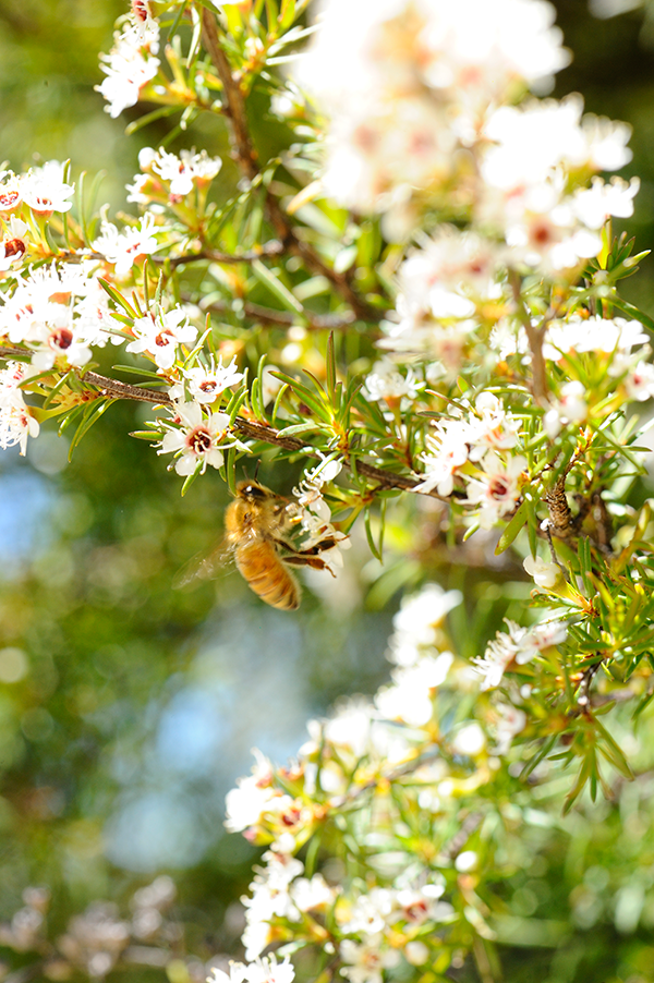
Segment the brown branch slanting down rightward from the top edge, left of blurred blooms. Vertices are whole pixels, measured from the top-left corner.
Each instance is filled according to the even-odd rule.
[[[205,48],[214,62],[222,83],[227,104],[226,113],[231,123],[232,154],[234,160],[243,174],[250,181],[253,181],[259,175],[261,171],[256,162],[257,153],[250,135],[247,116],[245,112],[245,100],[241,87],[232,74],[229,60],[220,46],[216,16],[206,8],[203,8],[202,11],[202,33]],[[335,269],[323,263],[312,246],[302,241],[289,222],[288,216],[282,211],[279,202],[269,191],[266,192],[266,208],[268,218],[275,227],[275,231],[281,242],[291,252],[300,256],[307,268],[314,274],[326,277],[341,296],[350,304],[358,318],[361,320],[377,321],[379,319],[379,312],[359,296],[356,291],[350,286],[347,276],[337,272]]]

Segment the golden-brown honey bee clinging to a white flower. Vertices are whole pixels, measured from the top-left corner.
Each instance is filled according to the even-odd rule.
[[[225,538],[239,573],[263,602],[283,611],[294,611],[300,606],[300,584],[289,568],[329,570],[320,554],[337,543],[334,536],[326,535],[315,545],[298,549],[288,536],[299,520],[293,500],[257,481],[239,482],[237,496],[225,513]],[[210,577],[215,559],[216,555],[204,560],[179,585],[194,575]]]

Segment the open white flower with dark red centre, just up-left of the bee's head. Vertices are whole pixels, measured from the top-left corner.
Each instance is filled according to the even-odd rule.
[[[174,453],[174,470],[181,475],[194,474],[198,466],[204,474],[207,464],[221,468],[225,461],[221,447],[231,446],[225,442],[230,426],[227,413],[209,413],[206,417],[195,402],[178,403],[175,409],[182,427],[167,425],[169,428],[157,453]]]

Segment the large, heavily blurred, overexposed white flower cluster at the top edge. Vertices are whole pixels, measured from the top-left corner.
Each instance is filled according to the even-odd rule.
[[[567,64],[553,20],[534,0],[324,4],[300,75],[331,116],[328,194],[373,211],[451,180],[487,108]]]

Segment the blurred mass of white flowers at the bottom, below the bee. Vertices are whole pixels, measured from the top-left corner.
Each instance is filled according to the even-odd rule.
[[[370,850],[365,881],[348,877],[338,866],[307,876],[295,853],[332,812],[354,805],[366,788],[379,782],[377,794],[384,794],[385,776],[401,780],[409,772],[411,784],[403,791],[416,797],[424,815],[440,817],[450,803],[460,808],[460,796],[493,780],[500,767],[497,755],[508,754],[526,726],[530,687],[507,687],[508,701],[504,692],[474,701],[479,716],[475,709],[475,716],[468,712],[457,720],[452,707],[465,694],[497,687],[510,663],[525,665],[564,642],[567,628],[561,621],[531,629],[508,622],[508,634],[498,635],[484,658],[470,665],[445,647],[445,619],[461,602],[458,591],[435,584],[404,598],[389,645],[396,664],[391,683],[374,700],[348,700],[327,720],[311,721],[310,740],[288,768],[275,768],[257,752],[253,774],[229,793],[228,829],[270,844],[242,898],[246,959],[259,957],[277,940],[305,938],[338,955],[340,971],[351,983],[380,983],[383,971],[402,959],[426,964],[431,939],[459,918],[447,899],[451,883],[405,851],[405,834],[398,833],[382,803],[371,811],[367,832],[360,834]],[[463,761],[469,762],[465,778]],[[378,863],[375,849],[380,850]],[[453,866],[459,873],[476,864],[470,849],[453,863],[443,860],[444,870]]]

